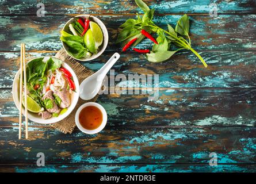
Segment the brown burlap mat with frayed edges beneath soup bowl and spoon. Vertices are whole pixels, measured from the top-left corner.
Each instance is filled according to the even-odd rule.
[[[82,64],[78,63],[77,60],[73,59],[70,57],[64,49],[60,49],[59,52],[56,53],[55,55],[56,58],[62,60],[63,62],[67,63],[77,74],[79,84],[86,79],[88,76],[93,74],[93,71],[87,69],[86,67],[82,66]],[[77,91],[77,93],[79,93]],[[98,95],[94,97],[93,99],[90,99],[89,101],[82,100],[81,98],[78,99],[77,106],[75,106],[75,109],[70,113],[70,115],[64,120],[55,122],[51,126],[57,129],[60,132],[63,133],[72,133],[75,128],[75,113],[77,112],[77,109],[82,105],[85,104],[86,102],[95,102],[96,99],[98,98]]]

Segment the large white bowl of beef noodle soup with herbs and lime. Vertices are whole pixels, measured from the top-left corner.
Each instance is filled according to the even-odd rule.
[[[66,118],[79,98],[77,75],[68,64],[55,57],[39,57],[26,63],[28,118],[51,124]],[[24,86],[23,86],[23,91]],[[20,70],[13,81],[13,99],[19,109]],[[24,93],[23,93],[24,94]],[[22,104],[24,97],[22,100]],[[24,106],[22,113],[25,114]]]

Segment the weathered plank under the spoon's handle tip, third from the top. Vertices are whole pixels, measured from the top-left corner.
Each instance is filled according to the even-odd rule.
[[[113,52],[90,62],[81,62],[90,70],[99,70]],[[55,55],[55,52],[29,52],[27,59]],[[18,52],[0,52],[0,89],[11,88],[19,66]],[[204,68],[191,52],[177,53],[163,63],[150,63],[143,55],[135,52],[122,53],[120,60],[112,67],[115,76],[123,74],[127,82],[114,83],[124,87],[147,87],[148,83],[135,82],[129,75],[159,75],[159,87],[256,87],[255,52],[204,51],[202,57],[208,63]],[[109,75],[108,75],[109,76]],[[147,78],[150,76],[146,76]],[[112,80],[114,80],[112,78]],[[154,86],[156,83],[153,82]]]

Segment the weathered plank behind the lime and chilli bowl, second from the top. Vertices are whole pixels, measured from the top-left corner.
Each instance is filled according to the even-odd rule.
[[[135,16],[99,15],[109,31],[109,45],[106,51],[120,51],[114,44],[117,28],[128,18]],[[167,22],[175,25],[181,16],[155,17],[154,21],[166,28]],[[20,43],[26,43],[27,50],[58,51],[61,48],[59,32],[71,16],[0,16],[0,51],[18,51]],[[205,50],[256,51],[256,15],[190,16],[190,35],[193,48]],[[246,29],[245,29],[246,28]],[[139,46],[151,47],[146,39]],[[138,47],[139,47],[138,46]]]

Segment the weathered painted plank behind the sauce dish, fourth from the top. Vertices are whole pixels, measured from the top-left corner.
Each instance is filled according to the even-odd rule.
[[[18,109],[10,90],[0,94],[1,125],[17,126]],[[176,89],[161,90],[154,100],[141,94],[102,94],[97,102],[106,109],[112,127],[250,127],[256,122],[255,95],[255,89]]]

